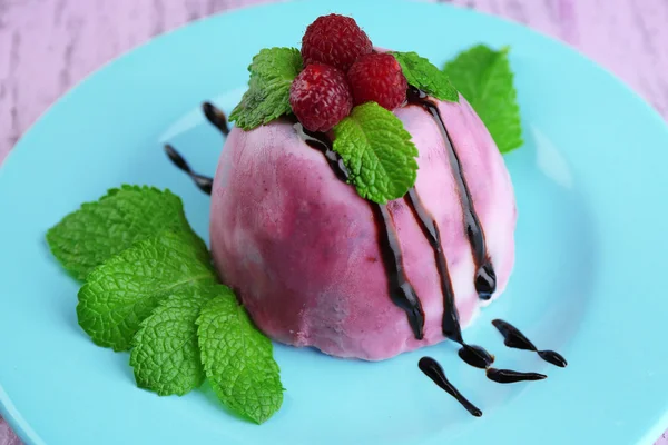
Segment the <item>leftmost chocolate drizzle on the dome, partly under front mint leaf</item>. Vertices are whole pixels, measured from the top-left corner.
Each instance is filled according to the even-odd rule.
[[[298,122],[295,123],[295,130],[306,145],[324,155],[334,175],[347,182],[350,174],[341,156],[332,148],[332,141],[327,136],[321,132],[308,131]],[[415,293],[404,270],[403,256],[392,215],[386,206],[369,200],[367,202],[374,215],[381,257],[385,267],[385,275],[387,276],[390,297],[406,314],[413,335],[420,340],[424,337],[424,310],[422,309],[418,293]]]

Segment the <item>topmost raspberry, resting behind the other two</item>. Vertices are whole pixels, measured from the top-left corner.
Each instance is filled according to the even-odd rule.
[[[302,38],[304,66],[320,62],[344,72],[372,49],[371,40],[355,20],[338,14],[318,17]]]

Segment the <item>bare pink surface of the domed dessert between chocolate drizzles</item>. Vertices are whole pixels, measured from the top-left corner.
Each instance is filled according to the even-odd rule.
[[[470,105],[440,102],[485,233],[498,289],[514,261],[517,209],[510,176]],[[420,157],[416,190],[435,217],[462,327],[482,301],[464,236],[462,208],[441,132],[422,108],[395,111]],[[234,128],[212,195],[210,239],[224,283],[275,340],[340,357],[381,360],[444,339],[443,297],[432,248],[403,200],[389,204],[407,277],[425,313],[416,340],[391,298],[370,205],[338,180],[293,126]]]

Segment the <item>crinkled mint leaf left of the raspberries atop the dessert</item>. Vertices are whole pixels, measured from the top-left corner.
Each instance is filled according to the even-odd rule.
[[[302,65],[302,55],[296,48],[261,50],[248,67],[248,90],[229,115],[229,120],[244,130],[252,130],[292,112],[289,87]]]

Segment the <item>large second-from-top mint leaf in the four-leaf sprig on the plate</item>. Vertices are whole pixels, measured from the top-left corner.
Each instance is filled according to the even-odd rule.
[[[208,251],[183,234],[139,241],[96,268],[79,290],[79,325],[92,340],[127,350],[160,300],[216,281]]]

